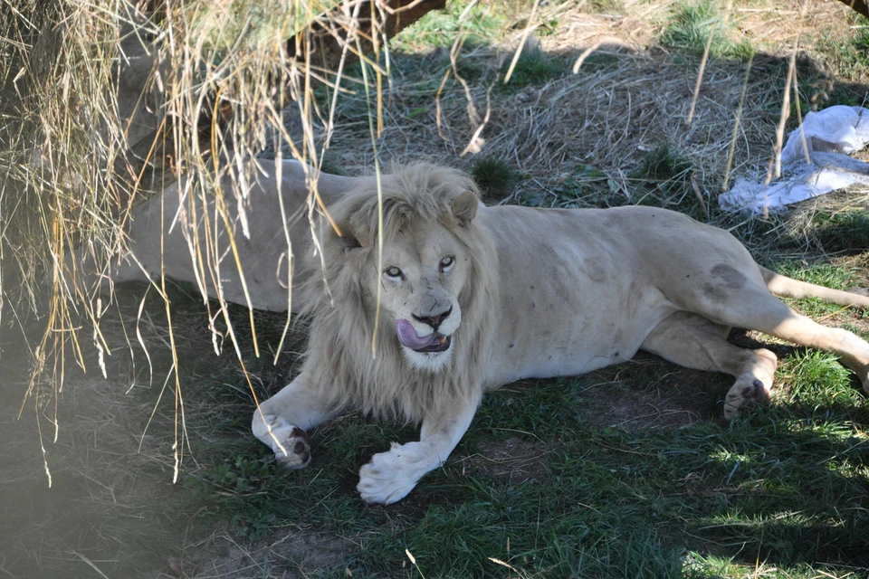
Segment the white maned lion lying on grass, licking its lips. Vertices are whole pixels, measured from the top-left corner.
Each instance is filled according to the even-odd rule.
[[[425,164],[383,176],[379,199],[376,179],[355,183],[332,209],[340,234],[324,235],[325,271],[304,289],[301,373],[259,404],[252,427],[299,469],[307,432],[347,407],[419,423],[419,441],[393,442],[359,470],[368,503],[406,497],[440,466],[486,391],[638,350],[734,376],[724,401],[734,418],[769,398],[778,360],[732,345],[730,327],[833,352],[869,393],[869,344],[773,294],[869,299],[769,271],[721,229],[644,206],[487,207],[468,176]]]

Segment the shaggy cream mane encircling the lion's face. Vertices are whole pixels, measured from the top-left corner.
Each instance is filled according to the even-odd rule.
[[[396,167],[381,179],[368,178],[331,211],[342,236],[329,229],[322,242],[322,275],[303,287],[312,321],[303,372],[329,394],[336,408],[352,405],[378,417],[420,422],[426,414],[449,412],[454,402],[478,403],[489,360],[497,303],[498,254],[479,219],[454,216],[453,202],[476,185],[454,169],[418,164]],[[392,241],[400,228],[439,221],[463,244],[471,268],[459,294],[462,324],[453,356],[437,372],[416,369],[401,353],[396,328],[381,318],[372,354],[377,297],[364,284],[364,268],[377,264],[377,233]],[[320,260],[317,260],[320,269]]]

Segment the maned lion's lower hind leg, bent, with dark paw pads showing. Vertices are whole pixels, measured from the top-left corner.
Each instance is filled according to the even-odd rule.
[[[724,417],[730,420],[746,404],[769,400],[778,358],[767,349],[732,345],[727,341],[728,330],[702,316],[679,311],[658,324],[640,347],[673,364],[734,376],[736,382],[724,400]]]

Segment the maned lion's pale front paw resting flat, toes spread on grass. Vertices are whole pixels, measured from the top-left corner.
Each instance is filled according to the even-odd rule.
[[[389,505],[407,496],[428,468],[422,465],[418,444],[392,443],[388,452],[380,452],[359,470],[356,489],[367,503]]]

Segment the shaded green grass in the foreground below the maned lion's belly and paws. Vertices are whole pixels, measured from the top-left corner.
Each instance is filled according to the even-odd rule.
[[[186,492],[243,542],[285,527],[344,537],[350,553],[331,577],[506,575],[492,558],[547,577],[739,577],[758,560],[782,579],[869,568],[869,439],[856,426],[869,403],[851,375],[831,356],[786,356],[774,405],[730,424],[623,430],[589,414],[595,395],[665,392],[674,371],[645,359],[490,394],[444,467],[388,508],[359,500],[357,471],[413,429],[346,416],[312,433],[308,469],[284,470],[247,434],[246,413],[235,421],[244,403],[224,401],[216,436],[232,441],[205,453]],[[220,382],[209,387],[227,392],[209,395],[233,398]],[[723,382],[708,395],[720,399]],[[480,468],[507,440],[538,451],[527,478]]]

